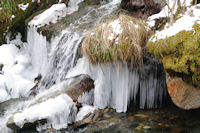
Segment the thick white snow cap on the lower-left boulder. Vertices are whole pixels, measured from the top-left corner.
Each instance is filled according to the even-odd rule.
[[[48,123],[45,128],[61,129],[66,128],[68,123],[75,120],[76,110],[72,99],[66,94],[62,94],[16,113],[14,122],[19,127],[23,127],[25,122],[47,119]],[[42,129],[42,127],[39,128]]]

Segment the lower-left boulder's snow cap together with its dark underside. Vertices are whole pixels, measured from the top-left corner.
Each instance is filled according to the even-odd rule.
[[[14,132],[35,130],[38,126],[51,126],[62,124],[67,126],[75,120],[77,108],[72,99],[61,94],[36,105],[24,108],[14,113],[7,121],[7,127]]]

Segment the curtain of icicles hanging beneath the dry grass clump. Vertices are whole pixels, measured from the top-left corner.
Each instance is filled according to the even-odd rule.
[[[67,75],[72,77],[88,74],[94,80],[94,105],[111,107],[126,112],[130,101],[140,108],[154,108],[162,104],[167,94],[165,73],[162,65],[146,58],[142,69],[131,70],[121,62],[91,65],[86,57]],[[137,96],[139,95],[139,100]]]

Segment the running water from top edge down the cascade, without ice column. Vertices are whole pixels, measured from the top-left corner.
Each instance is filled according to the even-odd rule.
[[[40,84],[41,88],[49,88],[53,84],[60,83],[65,79],[68,70],[74,67],[76,63],[76,56],[80,48],[80,43],[89,31],[90,27],[95,26],[100,21],[110,18],[118,10],[120,0],[114,0],[99,8],[88,7],[80,11],[81,17],[74,18],[73,22],[65,25],[67,28],[63,30],[59,36],[52,39],[51,44],[46,44],[46,51],[48,51],[48,62],[45,59],[40,63],[43,79]],[[79,12],[78,12],[79,13]],[[75,12],[73,15],[78,15]],[[67,17],[65,21],[71,21],[71,17]],[[45,44],[45,43],[43,43]],[[37,44],[38,45],[38,44]],[[40,45],[40,44],[39,44]],[[34,45],[35,47],[36,45]],[[36,46],[37,47],[37,46]],[[39,46],[38,48],[40,48]],[[41,51],[43,54],[46,51]],[[37,54],[37,52],[34,52]],[[39,55],[44,57],[43,55]],[[46,55],[45,55],[46,56]],[[34,56],[37,57],[37,56]],[[38,57],[37,57],[38,58]],[[39,59],[41,60],[41,58]],[[37,62],[38,63],[38,62]]]

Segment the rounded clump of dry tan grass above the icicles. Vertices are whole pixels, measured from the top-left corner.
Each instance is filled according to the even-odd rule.
[[[82,43],[82,52],[92,64],[107,63],[121,60],[131,62],[131,66],[142,64],[143,50],[148,39],[148,31],[142,20],[130,16],[119,16],[121,34],[114,34],[112,40],[108,37],[113,33],[108,26],[114,20],[99,24],[89,33]]]

